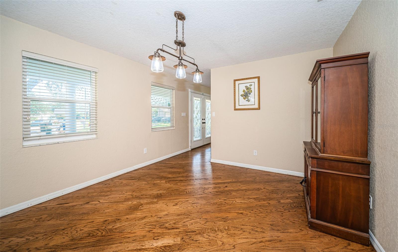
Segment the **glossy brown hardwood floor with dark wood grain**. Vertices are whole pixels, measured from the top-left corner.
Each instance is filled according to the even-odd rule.
[[[309,229],[300,180],[210,163],[207,145],[4,216],[0,248],[374,251]]]

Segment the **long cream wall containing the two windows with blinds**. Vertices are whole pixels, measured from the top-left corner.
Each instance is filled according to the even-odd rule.
[[[191,75],[179,80],[152,73],[146,65],[10,18],[0,22],[1,209],[189,148],[188,116],[181,117],[188,114],[188,89],[210,93],[193,85]],[[99,69],[98,139],[22,148],[22,50]],[[151,132],[151,81],[176,87],[175,130]]]

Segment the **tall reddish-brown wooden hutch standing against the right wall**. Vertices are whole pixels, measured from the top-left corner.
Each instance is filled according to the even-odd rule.
[[[369,246],[368,57],[318,59],[304,142],[308,226]]]

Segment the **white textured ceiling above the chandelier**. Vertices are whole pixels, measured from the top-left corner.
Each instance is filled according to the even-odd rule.
[[[211,68],[332,47],[359,2],[1,0],[0,14],[150,66],[148,55],[173,47],[179,10],[187,17],[185,53],[210,87]],[[174,74],[177,59],[162,55]]]

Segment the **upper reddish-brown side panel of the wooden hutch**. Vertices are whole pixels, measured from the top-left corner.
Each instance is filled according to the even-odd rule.
[[[367,64],[325,69],[325,154],[367,158],[367,72]]]

